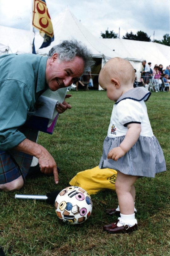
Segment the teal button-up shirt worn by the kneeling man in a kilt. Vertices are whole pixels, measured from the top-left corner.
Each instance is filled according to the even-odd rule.
[[[14,148],[26,137],[19,131],[46,87],[47,57],[8,54],[0,57],[0,150]]]

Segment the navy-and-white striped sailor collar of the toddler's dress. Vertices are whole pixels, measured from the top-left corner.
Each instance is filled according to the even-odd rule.
[[[115,104],[118,104],[120,101],[126,99],[131,99],[134,101],[147,101],[150,97],[150,94],[151,92],[149,92],[146,88],[136,87],[121,95]]]

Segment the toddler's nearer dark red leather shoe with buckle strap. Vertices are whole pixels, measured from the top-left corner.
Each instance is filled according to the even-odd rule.
[[[133,225],[132,227],[129,227],[128,225],[124,225],[121,227],[117,226],[117,223],[119,220],[117,220],[115,223],[111,223],[108,225],[105,225],[103,229],[109,233],[130,233],[132,231],[135,231],[137,229],[137,224]]]

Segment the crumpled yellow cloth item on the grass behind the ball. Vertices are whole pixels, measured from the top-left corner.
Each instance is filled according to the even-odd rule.
[[[100,169],[98,166],[77,173],[69,184],[85,189],[89,194],[96,194],[105,189],[115,190],[117,171],[109,168]]]

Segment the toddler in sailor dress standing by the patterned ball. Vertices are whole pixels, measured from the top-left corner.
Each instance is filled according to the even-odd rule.
[[[107,90],[108,98],[115,101],[99,163],[101,169],[117,170],[115,189],[119,205],[114,213],[120,217],[103,227],[110,233],[137,229],[134,183],[138,177],[155,177],[156,173],[166,170],[144,103],[151,93],[144,87],[133,88],[134,80],[132,65],[121,58],[110,59],[99,74],[100,86]]]

